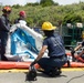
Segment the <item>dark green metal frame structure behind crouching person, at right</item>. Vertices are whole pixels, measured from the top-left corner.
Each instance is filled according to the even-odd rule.
[[[83,31],[84,28],[77,28],[76,25],[71,28],[62,27],[62,37],[64,39],[65,46],[75,46],[77,42],[81,42],[83,40]]]

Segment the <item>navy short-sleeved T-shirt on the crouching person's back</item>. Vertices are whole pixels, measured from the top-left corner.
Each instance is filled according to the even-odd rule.
[[[43,45],[48,45],[49,56],[61,56],[65,54],[64,42],[57,34],[45,38]]]

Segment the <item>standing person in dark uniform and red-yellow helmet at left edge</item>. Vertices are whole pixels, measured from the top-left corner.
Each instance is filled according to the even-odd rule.
[[[0,40],[1,40],[1,60],[7,61],[8,59],[4,56],[6,53],[6,46],[8,41],[8,35],[10,32],[10,21],[9,21],[9,14],[11,13],[11,8],[6,6],[2,9],[3,14],[0,17]]]

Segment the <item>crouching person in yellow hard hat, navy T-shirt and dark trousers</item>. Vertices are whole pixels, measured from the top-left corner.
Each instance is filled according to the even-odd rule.
[[[61,35],[54,34],[55,29],[56,27],[52,25],[51,22],[43,22],[42,30],[46,38],[43,40],[43,45],[38,58],[30,64],[30,66],[33,66],[38,63],[44,70],[43,73],[50,76],[60,75],[61,68],[67,61],[64,42]],[[49,56],[44,58],[43,54],[46,50],[49,51]]]

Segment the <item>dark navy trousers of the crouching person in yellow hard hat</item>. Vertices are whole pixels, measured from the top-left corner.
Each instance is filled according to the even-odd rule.
[[[42,58],[38,61],[40,66],[46,71],[50,72],[53,69],[61,69],[65,63],[67,62],[66,56],[62,58]]]

